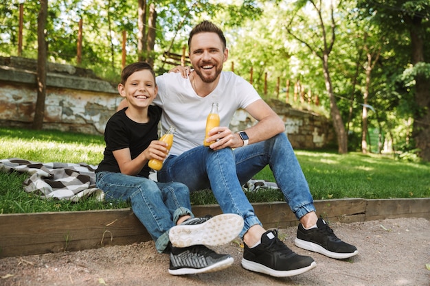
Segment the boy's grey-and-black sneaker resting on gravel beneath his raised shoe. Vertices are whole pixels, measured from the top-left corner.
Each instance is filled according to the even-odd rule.
[[[169,273],[172,275],[198,274],[223,270],[233,264],[229,254],[218,254],[206,246],[190,246],[170,250]]]

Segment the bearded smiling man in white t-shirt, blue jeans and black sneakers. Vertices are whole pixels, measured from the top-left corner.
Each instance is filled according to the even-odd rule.
[[[174,126],[177,130],[157,179],[183,182],[190,191],[210,188],[224,213],[243,217],[240,237],[245,243],[245,269],[271,276],[301,274],[315,267],[315,261],[285,246],[275,230],[265,230],[242,191],[242,184],[269,164],[300,221],[296,246],[336,259],[356,255],[357,248],[338,239],[326,222],[318,219],[308,183],[284,134],[284,122],[251,84],[222,71],[228,58],[223,32],[203,21],[190,32],[188,49],[194,67],[188,76],[166,73],[157,77],[159,96],[154,104],[163,108],[161,127],[166,130]],[[185,69],[172,71],[184,74]],[[212,102],[218,103],[220,126],[210,130],[205,139],[216,142],[204,147],[205,122]],[[238,108],[247,110],[258,123],[234,133],[227,126]]]

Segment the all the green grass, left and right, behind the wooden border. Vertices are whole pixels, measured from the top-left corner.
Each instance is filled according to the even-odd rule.
[[[102,136],[0,128],[0,159],[22,158],[42,163],[88,163],[97,165],[103,158]],[[335,198],[429,198],[430,164],[409,163],[386,156],[335,152],[296,151],[315,200]],[[91,198],[78,203],[42,200],[25,193],[22,182],[27,174],[0,171],[0,213],[43,211],[84,211],[122,208],[124,202],[97,202]],[[256,179],[274,182],[269,167]],[[251,202],[283,201],[276,190],[247,192]],[[192,204],[216,204],[210,191],[192,193]]]

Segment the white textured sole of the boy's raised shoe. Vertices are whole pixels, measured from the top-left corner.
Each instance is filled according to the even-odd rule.
[[[174,226],[170,228],[169,239],[172,246],[177,248],[199,244],[220,246],[238,237],[243,225],[240,215],[224,213],[212,217],[203,224]]]

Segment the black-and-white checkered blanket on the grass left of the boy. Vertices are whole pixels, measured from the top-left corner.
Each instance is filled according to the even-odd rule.
[[[73,202],[90,195],[100,201],[104,199],[103,191],[95,188],[96,168],[85,163],[40,163],[19,158],[0,160],[0,171],[30,174],[30,178],[23,182],[28,193]]]

